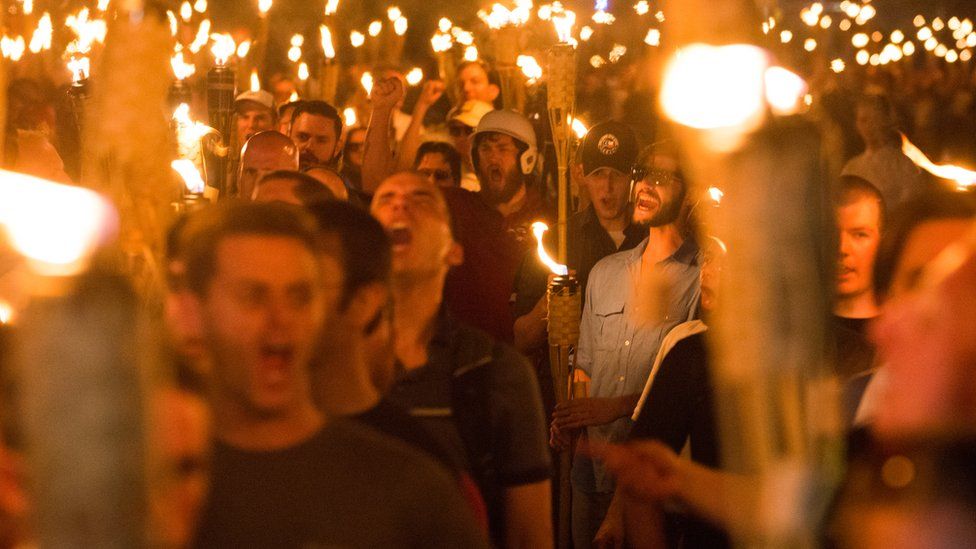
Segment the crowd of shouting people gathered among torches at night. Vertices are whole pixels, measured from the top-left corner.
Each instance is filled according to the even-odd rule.
[[[836,221],[828,356],[849,431],[846,478],[808,526],[828,546],[976,544],[976,201],[900,148],[905,132],[936,157],[972,157],[966,71],[814,81]],[[650,100],[630,112],[651,92],[613,89],[638,76],[581,79],[580,112],[604,120],[574,148],[567,228],[587,394],[557,403],[550,275],[530,229],[556,221],[539,117],[501,108],[482,61],[426,82],[410,115],[404,75],[376,74],[361,127],[321,100],[241,93],[224,195],[169,231],[179,375],[153,440],[179,473],[150,506],[156,539],[551,547],[556,496],[577,549],[757,535],[763,494],[723,468],[709,357],[735,250],[698,223],[702,182],[643,116]],[[449,86],[459,101],[438,120]],[[70,181],[57,109],[36,83],[8,95],[6,166]],[[0,450],[0,544],[31,543],[30,464]],[[565,451],[572,488],[558,494]]]

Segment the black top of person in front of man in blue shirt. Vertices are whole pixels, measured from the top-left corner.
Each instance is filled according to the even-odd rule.
[[[682,339],[664,357],[630,439],[658,440],[675,452],[681,452],[687,441],[693,461],[720,466],[715,392],[704,334]],[[666,528],[669,547],[730,547],[721,529],[694,517],[668,513]]]

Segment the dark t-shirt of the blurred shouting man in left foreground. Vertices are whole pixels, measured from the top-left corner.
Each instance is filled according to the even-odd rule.
[[[196,547],[487,547],[455,483],[367,427],[271,452],[217,443]]]

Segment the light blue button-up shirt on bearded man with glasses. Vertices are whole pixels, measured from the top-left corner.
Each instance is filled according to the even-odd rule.
[[[692,318],[697,308],[701,291],[698,245],[685,240],[673,254],[654,265],[652,276],[642,279],[641,255],[646,249],[647,239],[632,250],[605,257],[590,273],[576,367],[590,376],[591,397],[639,395],[664,336]],[[659,283],[660,291],[645,287],[639,296],[638,280]],[[648,292],[646,296],[644,291]],[[655,294],[656,299],[648,299]],[[657,306],[652,309],[655,301]],[[587,427],[587,436],[594,441],[619,442],[626,438],[632,423],[624,417]],[[588,480],[581,488],[612,491],[613,482],[602,464],[592,465],[593,479],[578,478],[589,469],[584,467],[573,475],[574,483]]]

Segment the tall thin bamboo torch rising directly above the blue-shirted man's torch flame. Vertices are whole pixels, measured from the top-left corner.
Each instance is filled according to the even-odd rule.
[[[572,45],[559,43],[549,52],[549,125],[556,151],[558,167],[558,215],[556,234],[559,237],[561,261],[566,260],[566,221],[569,218],[569,148],[573,136],[572,120],[576,100],[576,50]]]

